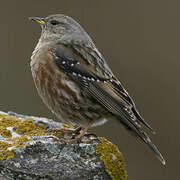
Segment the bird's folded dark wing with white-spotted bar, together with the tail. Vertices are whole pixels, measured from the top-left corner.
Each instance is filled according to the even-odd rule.
[[[61,44],[54,51],[54,61],[61,70],[80,85],[83,91],[134,131],[164,163],[162,155],[143,131],[140,123],[150,130],[152,128],[139,115],[131,97],[114,77],[96,49]]]

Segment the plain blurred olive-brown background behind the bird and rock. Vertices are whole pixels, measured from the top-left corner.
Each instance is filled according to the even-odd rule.
[[[90,34],[113,72],[128,89],[164,155],[164,167],[141,141],[108,122],[90,131],[124,154],[129,180],[178,180],[180,101],[180,1],[53,0],[1,1],[0,110],[54,118],[34,87],[30,56],[40,27],[29,16],[64,13]]]

